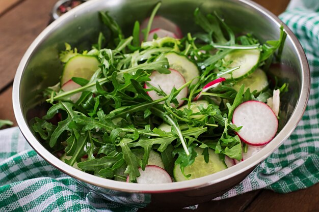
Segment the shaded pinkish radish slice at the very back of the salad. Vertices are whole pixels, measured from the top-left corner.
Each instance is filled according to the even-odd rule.
[[[147,27],[149,18],[146,18],[142,24],[141,24],[141,29],[144,29]],[[180,28],[173,23],[172,21],[168,20],[167,18],[164,18],[162,16],[155,16],[151,25],[151,31],[155,28],[162,28],[165,29],[166,31],[172,32],[173,34],[176,35],[176,38],[182,38],[183,34],[180,30]],[[153,37],[152,37],[153,38]],[[141,33],[140,34],[140,40],[144,40],[144,35]]]

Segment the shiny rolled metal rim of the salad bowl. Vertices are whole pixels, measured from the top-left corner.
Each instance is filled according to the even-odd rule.
[[[278,25],[284,26],[285,32],[287,33],[287,39],[291,40],[293,43],[293,47],[297,50],[297,56],[299,62],[301,64],[302,69],[302,83],[301,83],[301,92],[300,97],[297,102],[297,105],[291,114],[291,117],[283,127],[283,129],[276,135],[276,137],[267,144],[264,148],[262,148],[257,154],[251,156],[247,160],[237,164],[236,166],[232,166],[223,171],[217,172],[215,174],[211,174],[208,176],[181,181],[174,182],[169,184],[132,184],[126,183],[122,181],[116,181],[112,179],[106,179],[98,176],[94,176],[83,171],[77,170],[73,167],[70,167],[68,164],[62,162],[60,159],[56,158],[47,149],[45,149],[42,144],[35,138],[32,132],[29,129],[28,124],[26,123],[23,113],[22,106],[20,102],[20,83],[21,78],[24,72],[24,68],[29,61],[30,56],[33,54],[33,51],[41,44],[42,40],[45,39],[48,33],[54,31],[54,29],[61,24],[64,20],[68,19],[71,16],[75,16],[77,13],[88,9],[91,5],[96,5],[97,2],[103,0],[91,0],[86,3],[79,5],[78,7],[72,9],[68,13],[61,16],[58,20],[52,22],[49,26],[47,26],[42,33],[33,41],[28,50],[26,50],[23,55],[21,62],[17,68],[17,72],[14,78],[13,83],[13,109],[15,118],[17,120],[17,124],[20,128],[25,139],[29,142],[29,144],[35,149],[35,151],[49,164],[56,167],[60,171],[70,175],[73,178],[84,181],[85,183],[102,187],[105,189],[111,189],[121,192],[129,192],[129,193],[165,193],[165,192],[178,192],[178,191],[186,191],[191,189],[198,189],[202,187],[206,187],[209,185],[220,183],[226,179],[232,178],[238,174],[241,174],[256,165],[258,165],[261,161],[267,158],[270,154],[272,154],[287,138],[288,136],[295,130],[299,121],[302,118],[302,115],[306,109],[307,101],[310,93],[310,71],[308,66],[308,61],[305,55],[305,52],[299,43],[296,36],[290,29],[274,14],[272,14],[267,9],[262,6],[254,3],[250,0],[237,0],[238,4],[245,5],[246,7],[250,7],[256,12],[263,14],[269,18],[270,21],[274,22]],[[110,1],[110,0],[109,0]],[[232,0],[233,1],[233,0]]]

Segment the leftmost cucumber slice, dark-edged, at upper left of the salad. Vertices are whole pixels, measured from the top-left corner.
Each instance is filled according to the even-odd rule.
[[[61,77],[61,85],[69,81],[72,77],[90,79],[99,68],[100,62],[95,56],[76,55],[68,60],[64,66]]]

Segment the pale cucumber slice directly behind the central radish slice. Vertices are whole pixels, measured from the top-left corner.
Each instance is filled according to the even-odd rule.
[[[168,52],[165,54],[165,56],[168,60],[170,68],[181,73],[186,82],[189,82],[199,76],[199,70],[197,66],[193,62],[191,62],[191,60],[187,58],[187,56],[179,55],[176,52]],[[198,80],[199,79],[196,78],[192,82],[192,84],[195,84],[196,82],[198,82]]]

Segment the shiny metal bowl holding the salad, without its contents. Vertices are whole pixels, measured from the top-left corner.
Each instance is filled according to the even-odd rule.
[[[304,113],[309,96],[310,75],[304,51],[290,29],[275,15],[247,0],[162,0],[158,14],[176,22],[183,33],[196,32],[193,12],[216,11],[234,31],[252,33],[261,42],[279,38],[284,25],[287,39],[281,64],[271,72],[289,83],[289,92],[282,98],[278,135],[244,162],[205,177],[170,184],[143,185],[124,183],[79,171],[60,161],[32,133],[31,117],[43,115],[43,88],[56,84],[62,72],[58,53],[67,42],[78,49],[90,48],[100,31],[107,28],[99,21],[98,11],[109,11],[127,34],[135,20],[149,16],[157,0],[91,0],[51,23],[25,52],[13,84],[14,113],[22,134],[36,152],[51,165],[74,177],[83,186],[100,196],[137,207],[184,207],[220,196],[240,183],[261,161],[267,158],[293,132]]]

